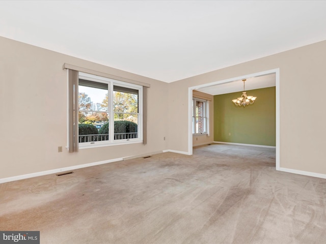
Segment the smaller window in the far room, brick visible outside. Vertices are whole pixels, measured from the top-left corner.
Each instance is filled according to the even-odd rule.
[[[207,100],[193,98],[192,115],[193,115],[194,135],[208,134],[207,111],[208,111]]]

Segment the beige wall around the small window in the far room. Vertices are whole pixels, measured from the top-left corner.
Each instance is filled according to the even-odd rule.
[[[209,118],[209,134],[193,136],[193,146],[212,143],[214,140],[214,96],[193,90],[193,97],[201,98],[208,101],[208,118]]]

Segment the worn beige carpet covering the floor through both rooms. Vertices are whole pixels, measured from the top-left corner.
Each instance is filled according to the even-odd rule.
[[[326,180],[212,144],[0,185],[0,230],[41,243],[326,243]]]

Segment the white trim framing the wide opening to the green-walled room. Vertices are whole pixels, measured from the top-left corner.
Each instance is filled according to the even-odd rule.
[[[192,101],[193,101],[193,90],[200,89],[207,86],[218,85],[223,83],[233,82],[235,80],[249,79],[250,77],[262,76],[273,74],[276,75],[276,170],[280,170],[280,68],[273,70],[266,70],[254,74],[233,77],[225,80],[215,81],[211,83],[206,83],[202,85],[196,85],[188,87],[188,155],[193,155],[193,131],[192,131]]]

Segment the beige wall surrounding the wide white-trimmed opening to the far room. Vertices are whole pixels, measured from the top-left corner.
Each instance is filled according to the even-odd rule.
[[[176,81],[169,86],[168,147],[187,151],[188,87],[280,68],[280,167],[326,174],[326,41]],[[297,99],[303,99],[296,102]]]

